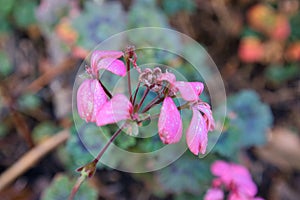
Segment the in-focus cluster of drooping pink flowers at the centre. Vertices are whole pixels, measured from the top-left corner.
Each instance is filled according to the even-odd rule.
[[[123,57],[126,65],[119,58]],[[135,93],[131,92],[130,66],[139,73],[139,82]],[[98,79],[100,69],[108,70],[115,75],[128,78],[129,98],[124,94],[111,95]],[[207,133],[214,129],[214,119],[209,104],[203,102],[199,95],[204,89],[201,82],[177,81],[176,76],[160,68],[141,70],[136,64],[133,47],[121,51],[94,51],[91,55],[90,67],[86,68],[91,78],[81,83],[77,92],[77,108],[79,115],[86,122],[95,122],[97,126],[114,124],[119,121],[135,122],[138,125],[142,116],[154,106],[162,103],[158,119],[158,134],[164,144],[177,143],[182,137],[182,120],[180,110],[189,108],[193,112],[190,125],[186,131],[187,145],[192,153],[204,154],[207,146]],[[145,87],[144,94],[137,101],[139,88]],[[148,104],[143,105],[148,93],[157,96]],[[180,97],[186,101],[176,106],[173,98]],[[143,109],[142,109],[143,108]]]

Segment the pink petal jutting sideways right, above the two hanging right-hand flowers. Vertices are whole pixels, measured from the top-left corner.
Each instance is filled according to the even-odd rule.
[[[186,101],[197,101],[204,88],[200,82],[176,81],[174,85],[178,88],[182,98]]]

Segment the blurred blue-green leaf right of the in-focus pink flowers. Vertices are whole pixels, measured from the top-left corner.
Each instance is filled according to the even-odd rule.
[[[239,149],[266,142],[273,116],[270,107],[262,103],[258,94],[251,90],[229,97],[227,103],[226,128],[213,151],[236,159]]]

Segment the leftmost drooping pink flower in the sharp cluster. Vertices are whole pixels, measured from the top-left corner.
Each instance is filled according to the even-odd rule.
[[[79,116],[86,122],[95,122],[96,114],[107,101],[107,96],[96,79],[83,81],[77,91]]]

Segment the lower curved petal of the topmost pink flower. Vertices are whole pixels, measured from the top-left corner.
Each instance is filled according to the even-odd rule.
[[[115,58],[103,58],[97,64],[97,70],[106,69],[118,76],[126,75],[126,66],[121,60]]]

